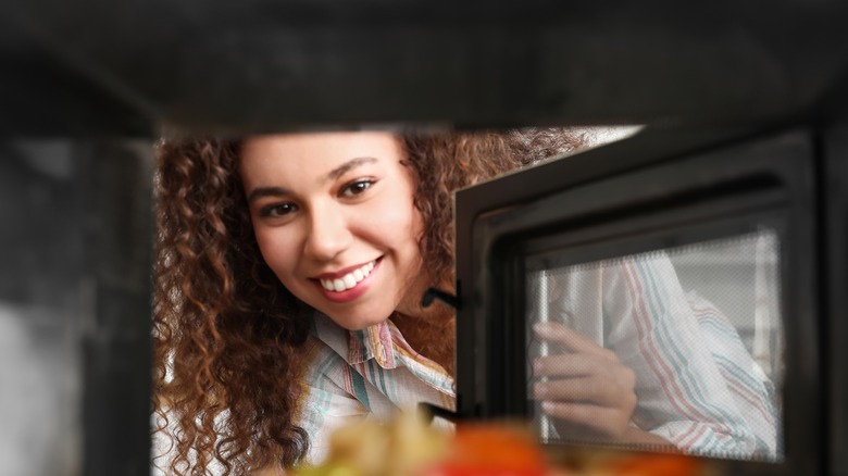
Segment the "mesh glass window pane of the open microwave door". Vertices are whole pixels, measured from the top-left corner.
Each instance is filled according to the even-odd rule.
[[[778,258],[770,229],[576,265],[528,258],[540,440],[781,461]]]

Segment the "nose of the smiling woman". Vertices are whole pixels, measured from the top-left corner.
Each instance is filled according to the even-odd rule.
[[[345,251],[353,235],[344,211],[337,204],[314,208],[309,216],[310,226],[303,254],[316,261],[329,261]]]

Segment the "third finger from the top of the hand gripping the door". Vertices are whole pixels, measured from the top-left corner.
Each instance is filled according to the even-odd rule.
[[[636,393],[632,388],[597,376],[540,381],[533,390],[536,400],[595,403],[628,413],[636,408]]]

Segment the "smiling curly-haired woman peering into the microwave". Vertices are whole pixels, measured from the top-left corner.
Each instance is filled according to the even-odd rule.
[[[426,288],[452,288],[451,192],[581,140],[363,131],[165,141],[154,403],[172,437],[167,471],[289,467],[320,460],[349,418],[421,401],[452,408],[453,315],[420,305]],[[638,376],[582,346],[603,371],[602,397],[581,403],[612,416],[587,419],[563,410],[568,394],[539,396],[558,421],[669,444],[632,424]]]

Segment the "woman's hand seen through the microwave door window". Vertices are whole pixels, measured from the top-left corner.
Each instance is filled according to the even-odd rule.
[[[534,331],[552,348],[533,363],[534,397],[554,418],[560,436],[627,440],[636,408],[635,373],[615,352],[560,323],[537,323]],[[546,381],[538,381],[543,377]]]

